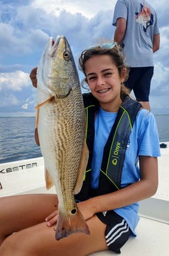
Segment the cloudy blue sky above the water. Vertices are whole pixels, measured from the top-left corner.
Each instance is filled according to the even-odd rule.
[[[152,1],[149,0],[149,3]],[[34,116],[36,89],[29,75],[49,37],[65,35],[74,59],[97,39],[112,40],[116,0],[0,0],[0,117]],[[169,114],[169,4],[154,0],[160,50],[154,53],[149,101],[153,114]],[[79,73],[80,80],[83,78]]]

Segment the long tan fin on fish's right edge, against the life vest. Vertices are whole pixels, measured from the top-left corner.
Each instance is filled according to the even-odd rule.
[[[83,184],[84,174],[85,174],[85,171],[86,171],[86,166],[87,166],[87,163],[88,163],[88,155],[89,155],[88,146],[86,144],[86,141],[84,141],[83,149],[82,149],[82,153],[81,153],[81,161],[80,161],[80,164],[79,164],[78,177],[77,177],[77,180],[76,180],[76,185],[74,186],[73,195],[78,194],[81,190],[81,186]]]

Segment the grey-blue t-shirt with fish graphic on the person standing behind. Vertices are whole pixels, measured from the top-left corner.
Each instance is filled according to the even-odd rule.
[[[147,14],[143,11],[144,4]],[[127,65],[154,66],[153,37],[160,34],[160,30],[156,12],[152,6],[143,0],[118,0],[114,10],[114,26],[118,18],[124,18],[127,21],[122,40]]]

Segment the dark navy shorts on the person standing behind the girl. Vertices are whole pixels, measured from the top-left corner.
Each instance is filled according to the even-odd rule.
[[[129,78],[124,84],[129,90],[133,90],[137,101],[149,101],[153,72],[153,66],[130,68]]]

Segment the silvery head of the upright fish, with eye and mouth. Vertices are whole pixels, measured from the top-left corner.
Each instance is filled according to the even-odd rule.
[[[71,47],[64,36],[49,37],[37,71],[38,87],[57,98],[80,87]]]

